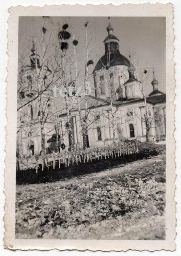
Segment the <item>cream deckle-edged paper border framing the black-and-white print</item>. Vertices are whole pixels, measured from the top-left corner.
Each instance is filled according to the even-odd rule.
[[[146,8],[149,5],[149,8]],[[104,10],[103,10],[104,9]],[[94,10],[94,12],[92,12]],[[174,141],[174,62],[173,62],[173,5],[168,4],[121,4],[121,5],[45,5],[44,7],[11,7],[8,19],[8,76],[7,76],[7,143],[5,151],[5,215],[4,247],[12,250],[21,249],[77,249],[85,251],[174,251],[176,236],[175,191],[175,141]],[[18,16],[166,16],[166,92],[167,92],[167,163],[166,163],[166,240],[15,240],[15,156],[16,156],[16,92],[17,92],[17,44]],[[76,15],[75,15],[76,13]],[[102,15],[104,13],[104,15]],[[116,15],[115,15],[116,13]],[[127,14],[126,14],[127,13]],[[128,15],[129,13],[129,15]],[[139,13],[139,15],[137,15]],[[86,15],[87,14],[87,15]],[[98,15],[99,14],[99,15]],[[126,15],[125,15],[126,14]],[[16,63],[16,65],[15,65]],[[15,92],[15,93],[14,93]],[[170,120],[168,120],[168,118]],[[14,129],[14,130],[13,130]],[[168,132],[169,130],[169,132]]]

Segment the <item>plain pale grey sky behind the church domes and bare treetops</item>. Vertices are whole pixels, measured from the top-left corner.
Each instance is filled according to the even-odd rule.
[[[50,17],[45,22],[47,29],[46,37],[51,34],[51,42],[57,40],[58,23],[60,29],[66,22],[69,24],[68,31],[71,33],[70,44],[75,39],[79,41],[77,45],[77,56],[79,57],[78,70],[80,71],[79,84],[83,83],[85,70],[85,27],[89,22],[89,48],[92,48],[89,59],[93,59],[94,65],[89,66],[92,73],[98,59],[104,55],[104,39],[108,35],[108,17]],[[155,76],[159,81],[158,89],[165,92],[165,18],[164,17],[110,17],[110,23],[114,29],[113,35],[119,39],[119,51],[128,58],[129,52],[135,55],[138,60],[137,68],[152,69],[154,65]],[[19,18],[19,56],[30,54],[32,47],[32,36],[41,35],[41,17],[20,17]],[[39,55],[41,51],[39,49]],[[29,59],[27,59],[27,64]],[[153,88],[151,81],[153,74],[148,79],[147,94]],[[90,79],[93,84],[93,79]]]

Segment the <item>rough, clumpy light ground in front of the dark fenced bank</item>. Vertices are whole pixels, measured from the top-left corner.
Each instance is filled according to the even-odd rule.
[[[78,178],[16,185],[16,239],[31,238],[164,240],[165,153]]]

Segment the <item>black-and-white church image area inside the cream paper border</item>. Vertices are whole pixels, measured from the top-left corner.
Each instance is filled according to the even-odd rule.
[[[165,17],[19,17],[17,239],[165,240]]]

